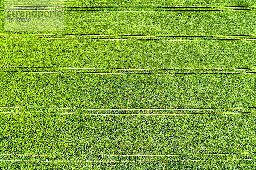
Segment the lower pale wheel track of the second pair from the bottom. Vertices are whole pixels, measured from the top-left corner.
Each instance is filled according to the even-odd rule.
[[[169,116],[169,115],[231,115],[231,114],[250,114],[256,112],[240,112],[240,113],[49,113],[49,112],[4,112],[0,113],[35,113],[35,114],[68,114],[68,115],[146,115],[146,116]]]

